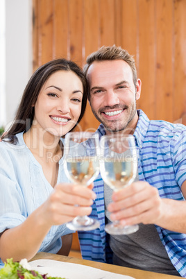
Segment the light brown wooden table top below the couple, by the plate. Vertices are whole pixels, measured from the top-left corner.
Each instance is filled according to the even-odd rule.
[[[40,252],[35,255],[31,259],[33,260],[40,260],[40,259],[46,259],[46,260],[57,260],[60,262],[71,262],[73,264],[82,264],[87,265],[89,267],[94,267],[96,269],[101,269],[105,271],[110,271],[114,273],[119,273],[127,276],[134,277],[136,279],[174,279],[174,278],[180,278],[179,276],[170,276],[167,274],[162,273],[155,273],[150,271],[142,271],[140,269],[129,269],[128,267],[119,267],[114,264],[103,264],[102,262],[93,262],[90,260],[82,260],[78,259],[76,257],[67,257],[63,255],[57,255],[57,254],[51,254],[51,253],[44,253]]]

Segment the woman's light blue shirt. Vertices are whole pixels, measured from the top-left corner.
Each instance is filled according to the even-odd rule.
[[[0,233],[23,223],[28,215],[47,200],[53,187],[45,178],[42,166],[24,143],[23,133],[18,143],[0,142]],[[58,183],[69,182],[59,161]],[[65,224],[52,226],[39,251],[57,253],[61,237],[74,233]],[[0,269],[3,262],[0,259]]]

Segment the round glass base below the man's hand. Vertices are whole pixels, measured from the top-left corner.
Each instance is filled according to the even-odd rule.
[[[130,233],[135,233],[137,230],[139,230],[138,225],[121,226],[120,223],[108,223],[105,226],[105,232],[110,235],[130,235]]]

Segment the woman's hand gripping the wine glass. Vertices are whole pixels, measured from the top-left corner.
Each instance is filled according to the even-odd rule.
[[[83,187],[72,183],[56,185],[46,202],[40,206],[40,214],[48,226],[60,225],[76,216],[90,215],[96,194],[93,185]]]

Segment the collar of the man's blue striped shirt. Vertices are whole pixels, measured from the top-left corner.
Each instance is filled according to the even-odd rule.
[[[139,119],[135,128],[134,137],[137,146],[140,149],[142,149],[142,144],[146,137],[146,132],[148,130],[150,120],[142,110],[137,110],[137,115],[139,116]],[[99,125],[99,128],[96,130],[96,133],[99,134],[99,138],[102,137],[102,135],[105,135],[106,132],[103,124]]]

